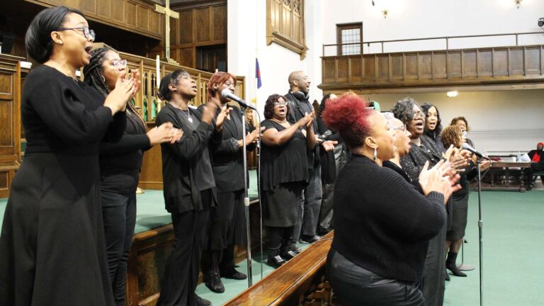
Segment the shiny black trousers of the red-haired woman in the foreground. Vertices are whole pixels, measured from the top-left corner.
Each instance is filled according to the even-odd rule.
[[[425,306],[418,284],[379,276],[334,249],[327,256],[327,278],[342,306]]]

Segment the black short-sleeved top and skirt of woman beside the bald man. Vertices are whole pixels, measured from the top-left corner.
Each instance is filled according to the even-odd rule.
[[[273,120],[264,120],[261,127],[285,130]],[[302,189],[308,180],[306,137],[300,130],[280,146],[261,144],[261,200],[264,224],[271,227],[292,227],[297,222]]]

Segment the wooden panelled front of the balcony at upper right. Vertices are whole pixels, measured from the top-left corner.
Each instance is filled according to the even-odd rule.
[[[543,52],[544,46],[533,45],[322,57],[319,88],[372,93],[373,89],[442,86],[544,86]]]

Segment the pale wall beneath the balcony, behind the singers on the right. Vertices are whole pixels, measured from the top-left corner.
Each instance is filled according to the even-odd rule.
[[[469,138],[485,151],[536,149],[544,142],[544,89],[514,91],[459,92],[455,98],[446,93],[374,94],[382,111],[392,108],[399,98],[411,96],[420,104],[429,102],[440,111],[442,126],[460,115],[467,118]]]

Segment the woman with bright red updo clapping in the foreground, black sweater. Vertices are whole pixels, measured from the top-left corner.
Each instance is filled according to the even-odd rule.
[[[446,222],[452,183],[438,167],[419,177],[424,195],[382,162],[394,157],[387,119],[344,94],[323,120],[339,131],[352,158],[334,189],[334,239],[327,274],[341,305],[425,305],[421,282],[429,239]],[[447,167],[443,167],[446,169]]]

